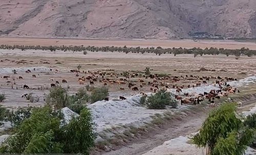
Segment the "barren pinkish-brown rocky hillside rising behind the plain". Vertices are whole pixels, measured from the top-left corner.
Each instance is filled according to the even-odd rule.
[[[1,0],[0,35],[253,37],[255,8],[253,0]]]

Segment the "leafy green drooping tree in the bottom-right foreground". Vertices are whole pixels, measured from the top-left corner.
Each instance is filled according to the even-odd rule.
[[[243,125],[236,110],[233,103],[213,110],[194,137],[194,143],[205,147],[206,154],[244,154],[253,141],[253,129]]]

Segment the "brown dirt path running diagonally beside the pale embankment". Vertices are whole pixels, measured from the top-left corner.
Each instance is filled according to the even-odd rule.
[[[255,96],[244,103],[244,107],[241,110],[248,109],[255,105]],[[152,150],[153,148],[162,145],[163,142],[170,139],[177,138],[179,136],[187,136],[193,132],[197,132],[202,126],[203,121],[207,118],[211,108],[206,107],[205,110],[201,110],[196,113],[188,113],[182,120],[172,120],[166,122],[161,128],[150,131],[146,136],[130,142],[126,146],[118,148],[110,152],[98,153],[101,155],[140,155]]]

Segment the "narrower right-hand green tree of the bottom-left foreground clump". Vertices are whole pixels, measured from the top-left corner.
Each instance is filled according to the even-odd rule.
[[[89,109],[81,110],[80,116],[73,118],[66,126],[64,147],[65,153],[89,154],[89,149],[94,145],[97,135],[95,124]]]

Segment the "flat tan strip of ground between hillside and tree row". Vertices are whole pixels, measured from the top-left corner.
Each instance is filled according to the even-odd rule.
[[[157,39],[60,39],[60,38],[17,38],[0,37],[0,45],[24,46],[115,46],[115,47],[162,47],[162,48],[224,48],[241,49],[243,47],[256,50],[255,42],[238,42],[231,40],[157,40]]]

